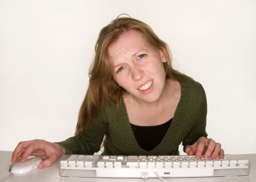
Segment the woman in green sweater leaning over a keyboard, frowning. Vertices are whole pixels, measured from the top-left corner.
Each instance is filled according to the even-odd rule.
[[[12,162],[32,152],[47,157],[39,168],[61,155],[179,155],[224,157],[220,143],[207,139],[207,103],[196,81],[172,68],[167,43],[149,25],[129,17],[104,27],[89,71],[76,133],[64,142],[20,142]]]

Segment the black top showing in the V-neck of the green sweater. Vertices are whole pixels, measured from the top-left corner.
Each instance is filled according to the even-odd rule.
[[[172,123],[172,119],[160,125],[140,126],[130,124],[134,137],[140,148],[150,151],[153,150],[164,139],[164,135]]]

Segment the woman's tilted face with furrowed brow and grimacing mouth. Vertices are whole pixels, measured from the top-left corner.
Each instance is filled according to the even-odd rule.
[[[129,30],[108,49],[117,84],[137,101],[157,101],[165,86],[163,52],[150,45],[139,32]]]

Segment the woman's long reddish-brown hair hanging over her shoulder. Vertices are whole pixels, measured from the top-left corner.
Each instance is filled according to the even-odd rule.
[[[130,17],[117,17],[99,33],[95,45],[95,57],[89,68],[89,86],[79,111],[75,135],[81,135],[88,127],[92,118],[102,107],[114,106],[118,111],[121,95],[125,91],[114,80],[114,66],[107,50],[121,34],[128,30],[137,30],[145,40],[165,53],[165,78],[177,81],[189,80],[189,77],[172,68],[172,55],[167,43],[160,40],[151,27],[140,20]]]

